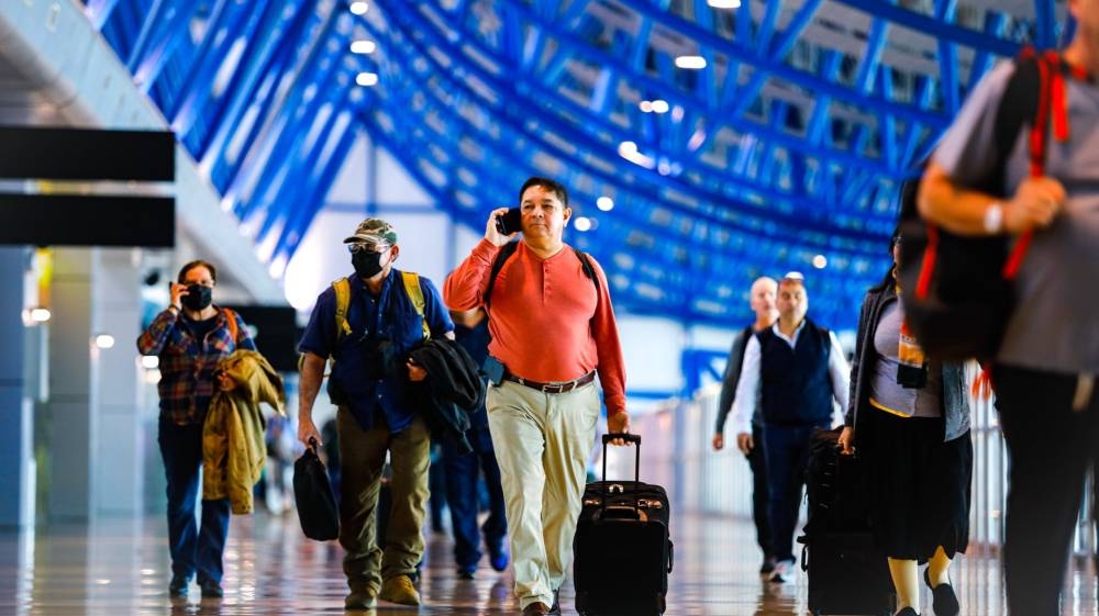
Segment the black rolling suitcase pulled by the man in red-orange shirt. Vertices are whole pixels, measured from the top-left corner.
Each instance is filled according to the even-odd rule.
[[[584,490],[573,540],[576,611],[582,616],[659,616],[673,561],[668,495],[659,485],[637,481],[637,435],[603,436],[603,479],[607,444],[615,438],[637,448],[634,481],[596,481]]]

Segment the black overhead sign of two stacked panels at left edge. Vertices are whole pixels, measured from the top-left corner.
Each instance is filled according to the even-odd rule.
[[[0,180],[173,182],[175,147],[169,132],[0,126]],[[120,192],[0,188],[0,244],[175,246],[174,197]]]

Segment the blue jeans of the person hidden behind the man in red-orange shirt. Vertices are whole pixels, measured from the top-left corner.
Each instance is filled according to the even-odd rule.
[[[456,447],[443,443],[443,463],[446,469],[446,501],[451,507],[451,525],[454,527],[454,560],[458,569],[473,570],[480,562],[480,533],[485,534],[485,545],[489,552],[503,549],[503,538],[508,533],[508,518],[503,505],[503,489],[500,486],[500,467],[492,450],[492,437],[488,426],[471,428],[466,433],[473,452],[457,453]],[[485,473],[488,491],[489,516],[480,531],[477,529],[478,470]]]

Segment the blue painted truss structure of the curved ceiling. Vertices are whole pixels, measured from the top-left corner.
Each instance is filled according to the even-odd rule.
[[[800,270],[814,316],[851,327],[888,267],[900,182],[998,58],[1056,46],[1072,24],[1048,0],[742,2],[86,11],[273,271],[366,132],[477,231],[528,176],[563,180],[586,225],[569,242],[633,313],[736,324],[755,277]],[[353,53],[355,41],[376,49]],[[685,56],[704,67],[682,68]]]

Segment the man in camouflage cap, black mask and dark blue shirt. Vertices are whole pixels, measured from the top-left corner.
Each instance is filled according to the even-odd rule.
[[[342,477],[340,545],[351,589],[344,605],[368,609],[378,598],[419,605],[413,580],[424,549],[420,529],[430,440],[408,392],[426,372],[409,351],[429,336],[453,338],[454,325],[430,280],[393,267],[400,249],[392,225],[366,219],[344,244],[355,272],[318,296],[299,345],[298,438],[307,447],[321,445],[312,408],[331,358],[329,396],[337,406]],[[379,540],[376,509],[387,452],[392,511]]]

